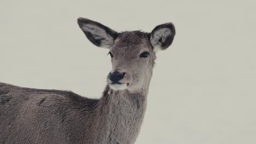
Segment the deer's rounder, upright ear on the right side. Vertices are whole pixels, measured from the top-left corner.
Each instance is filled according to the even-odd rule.
[[[167,49],[172,44],[174,35],[175,28],[171,22],[156,26],[150,34],[150,43],[154,51]]]

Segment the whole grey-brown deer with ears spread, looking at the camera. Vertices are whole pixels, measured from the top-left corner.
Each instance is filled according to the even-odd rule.
[[[152,32],[116,32],[79,17],[80,29],[108,49],[112,70],[101,98],[0,83],[0,143],[135,143],[146,111],[156,53],[172,44],[173,23]]]

